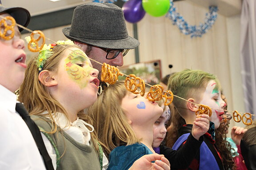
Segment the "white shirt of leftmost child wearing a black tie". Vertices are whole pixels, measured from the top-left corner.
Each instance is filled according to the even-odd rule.
[[[0,170],[46,170],[35,140],[15,107],[16,95],[0,85]]]

